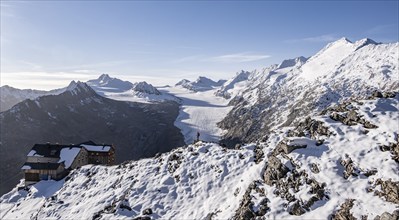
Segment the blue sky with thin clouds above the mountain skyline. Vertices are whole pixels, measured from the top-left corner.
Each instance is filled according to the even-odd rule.
[[[398,20],[398,1],[1,0],[1,85],[229,78],[341,37],[397,42]]]

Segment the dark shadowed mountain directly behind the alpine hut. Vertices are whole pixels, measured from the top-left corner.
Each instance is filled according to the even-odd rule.
[[[60,95],[25,100],[0,113],[1,193],[21,178],[20,167],[35,143],[114,144],[117,162],[181,146],[183,137],[173,125],[178,111],[175,102],[154,105],[104,98],[81,82],[71,83]]]

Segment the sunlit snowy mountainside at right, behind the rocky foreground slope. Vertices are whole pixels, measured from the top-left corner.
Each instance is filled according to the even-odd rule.
[[[233,91],[234,108],[219,123],[228,130],[224,143],[262,139],[272,129],[296,124],[350,96],[397,91],[398,47],[399,43],[352,43],[343,38],[308,60],[297,58],[252,72],[246,86]]]

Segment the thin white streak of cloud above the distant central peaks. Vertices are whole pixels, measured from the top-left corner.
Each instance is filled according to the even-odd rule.
[[[235,53],[235,54],[226,54],[226,55],[211,57],[207,59],[207,61],[222,62],[222,63],[244,63],[244,62],[264,60],[270,57],[271,57],[270,55],[266,54]]]

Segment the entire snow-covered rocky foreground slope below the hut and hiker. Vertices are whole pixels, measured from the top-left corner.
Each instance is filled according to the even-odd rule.
[[[0,218],[397,219],[398,105],[398,94],[376,93],[263,143],[197,142],[118,166],[87,165],[58,182],[16,187],[0,198]]]

